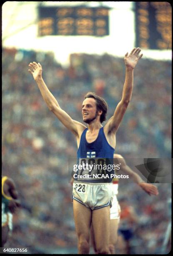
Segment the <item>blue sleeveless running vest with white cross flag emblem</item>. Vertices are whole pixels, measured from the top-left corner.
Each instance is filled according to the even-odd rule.
[[[100,128],[98,137],[96,138],[95,141],[88,143],[86,140],[86,132],[88,131],[88,128],[86,128],[80,138],[80,145],[77,151],[77,158],[78,158],[78,164],[90,164],[92,166],[93,164],[93,169],[92,171],[88,170],[83,170],[80,171],[78,170],[78,174],[92,174],[90,178],[88,179],[80,179],[80,181],[83,182],[91,182],[91,183],[102,183],[102,182],[111,182],[112,179],[110,178],[110,174],[113,173],[113,171],[107,172],[107,169],[103,168],[98,170],[95,165],[102,165],[102,167],[106,166],[106,164],[113,164],[113,154],[114,154],[114,148],[110,146],[108,143],[105,133],[103,130],[103,127]],[[88,160],[87,160],[88,159]],[[101,178],[101,175],[104,173],[104,177]],[[93,178],[93,174],[96,175],[97,177]],[[99,174],[99,175],[98,175]],[[106,174],[109,175],[106,178]],[[99,176],[99,178],[98,178]],[[86,176],[85,176],[86,177]],[[91,179],[92,178],[92,179]],[[77,179],[79,180],[79,179]]]

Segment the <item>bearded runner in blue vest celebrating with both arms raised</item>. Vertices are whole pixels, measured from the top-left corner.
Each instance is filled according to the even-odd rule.
[[[38,84],[40,92],[48,108],[76,137],[78,144],[78,159],[105,158],[113,159],[115,149],[115,134],[119,128],[123,115],[128,107],[133,90],[133,69],[143,56],[140,48],[134,48],[130,54],[125,54],[125,83],[123,94],[113,116],[105,126],[102,122],[107,113],[107,104],[103,98],[88,93],[82,104],[83,121],[88,128],[73,120],[60,108],[55,97],[48,90],[42,78],[40,63],[30,63],[28,70]],[[98,254],[110,254],[110,202],[112,192],[110,183],[73,184],[73,212],[75,228],[78,235],[78,252],[88,254],[90,250],[90,225],[93,223],[95,244]],[[77,187],[76,187],[77,186]],[[81,187],[80,187],[81,186]],[[77,188],[77,189],[76,189]],[[82,190],[81,190],[82,188]]]

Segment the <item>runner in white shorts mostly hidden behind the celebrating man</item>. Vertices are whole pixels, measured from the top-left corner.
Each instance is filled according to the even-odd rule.
[[[129,176],[129,179],[133,179],[133,181],[139,185],[141,189],[143,189],[148,195],[158,195],[158,189],[155,185],[145,183],[143,179],[140,178],[140,176],[133,172],[133,170],[126,164],[125,159],[123,156],[119,154],[114,154],[114,164],[120,164],[120,170],[119,172],[123,172],[124,174],[127,174]],[[117,175],[118,175],[117,174]],[[117,200],[117,195],[118,195],[118,179],[113,179],[113,202],[112,202],[112,207],[110,208],[110,237],[109,237],[109,250],[110,254],[115,254],[115,245],[117,243],[117,238],[118,238],[118,224],[120,222],[120,206]],[[129,217],[134,218],[133,212],[129,212]],[[93,228],[91,229],[91,240],[93,243],[93,248],[96,251],[95,248],[95,241],[94,241],[94,236],[93,236]]]

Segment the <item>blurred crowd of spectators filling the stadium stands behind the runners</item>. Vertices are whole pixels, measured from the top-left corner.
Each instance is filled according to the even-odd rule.
[[[12,177],[22,208],[14,216],[10,247],[34,253],[76,248],[68,159],[76,157],[74,136],[48,110],[28,72],[36,61],[60,107],[82,122],[84,95],[95,92],[108,103],[107,120],[121,99],[125,66],[108,54],[71,54],[63,67],[52,52],[3,49],[3,174]],[[131,102],[117,132],[116,153],[124,157],[171,157],[171,62],[141,59],[134,70]],[[103,123],[104,125],[104,123]],[[170,216],[171,184],[159,184],[149,197],[135,184],[119,189],[138,215],[130,243],[133,253],[159,254]]]

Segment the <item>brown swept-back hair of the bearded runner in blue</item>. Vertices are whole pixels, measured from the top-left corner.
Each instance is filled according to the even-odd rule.
[[[106,120],[106,113],[108,111],[108,104],[105,102],[105,100],[102,97],[96,95],[94,92],[88,92],[85,95],[85,99],[86,98],[93,98],[93,99],[95,99],[97,111],[98,110],[102,110],[102,112],[103,112],[100,115],[100,123],[103,123],[103,121]]]

